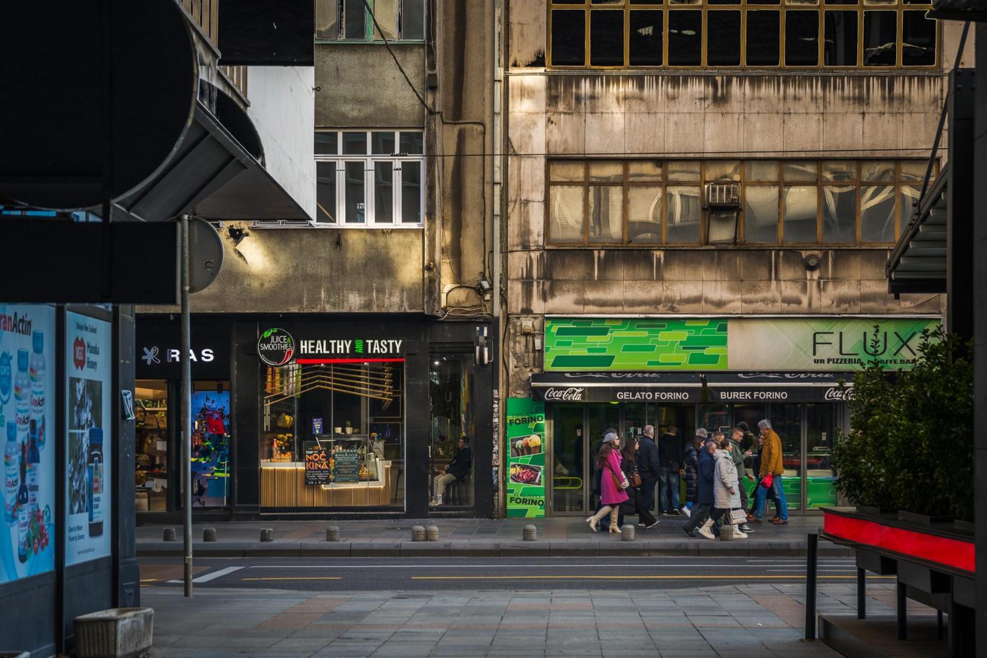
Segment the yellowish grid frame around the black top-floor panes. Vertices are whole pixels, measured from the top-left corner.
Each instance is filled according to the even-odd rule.
[[[646,4],[645,4],[646,3]],[[730,3],[730,4],[727,4]],[[837,4],[839,3],[839,4]],[[756,2],[754,0],[666,0],[666,2],[647,2],[647,0],[550,0],[547,4],[547,42],[548,42],[548,56],[546,58],[548,66],[550,68],[556,69],[571,69],[571,68],[594,68],[594,69],[640,69],[640,68],[683,68],[683,69],[706,69],[706,68],[745,68],[745,69],[781,69],[781,68],[798,68],[798,69],[862,69],[870,71],[880,71],[880,70],[893,70],[893,69],[908,69],[908,70],[935,70],[941,66],[941,51],[942,51],[942,26],[939,21],[936,21],[936,25],[933,28],[934,36],[934,53],[933,62],[928,64],[914,64],[905,61],[907,55],[904,53],[903,42],[903,32],[905,30],[905,19],[910,20],[916,18],[923,18],[925,12],[932,9],[932,5],[928,3],[916,3],[912,4],[908,0],[760,0]],[[567,56],[569,61],[563,61],[562,57],[553,58],[554,52],[558,52],[559,49],[553,49],[553,26],[556,21],[559,21],[559,25],[569,25],[569,27],[578,26],[580,23],[579,18],[575,15],[577,13],[582,13],[582,62],[572,61],[572,59],[579,58],[579,44],[569,43],[567,49]],[[617,43],[614,41],[609,41],[607,46],[601,47],[600,51],[611,50],[609,56],[598,56],[594,62],[593,51],[591,48],[591,38],[593,32],[593,22],[597,21],[600,29],[604,27],[615,27],[619,21],[604,21],[603,12],[615,12],[617,14],[622,14],[623,23],[623,61],[617,62]],[[632,34],[632,29],[634,26],[640,24],[641,19],[635,20],[636,18],[645,17],[644,12],[660,12],[661,16],[661,35],[660,35],[660,61],[655,61],[657,52],[654,50],[641,50],[641,55],[636,55],[632,53],[632,41],[642,40],[641,42],[645,44],[648,41],[653,41],[655,35],[653,34],[654,26],[647,26],[645,28],[634,29],[634,34]],[[693,12],[694,14],[681,14],[679,12]],[[736,63],[730,62],[710,62],[710,45],[711,40],[709,39],[708,27],[710,25],[711,15],[720,12],[736,12],[739,16],[736,17],[736,26],[738,33],[736,35],[739,40],[739,61]],[[752,17],[753,12],[760,12],[757,17]],[[796,15],[793,12],[800,12]],[[816,63],[797,63],[796,61],[789,62],[787,59],[794,60],[797,57],[811,56],[810,50],[798,49],[795,41],[791,44],[791,47],[787,45],[786,35],[789,34],[791,30],[797,30],[797,17],[804,19],[810,19],[804,14],[804,12],[815,12],[815,23],[817,26],[817,31],[815,33],[815,55]],[[853,30],[856,32],[856,53],[854,58],[856,63],[843,65],[838,63],[826,63],[827,58],[827,31],[830,29],[836,29],[834,26],[837,25],[840,18],[851,18],[849,15],[835,15],[836,12],[853,12],[853,16],[856,20],[856,26],[853,26]],[[886,57],[881,57],[880,48],[866,48],[865,47],[865,35],[871,32],[871,27],[878,25],[880,21],[888,18],[888,14],[877,15],[874,12],[887,12],[894,13],[895,15],[895,48],[894,48],[894,61],[887,62]],[[914,14],[910,13],[913,12]],[[695,13],[701,14],[701,24],[695,21]],[[777,23],[778,23],[778,58],[777,62],[756,62],[753,61],[748,63],[748,59],[753,59],[754,57],[749,57],[752,53],[749,51],[748,38],[752,34],[760,32],[760,29],[754,29],[754,32],[748,31],[748,25],[751,23],[752,18],[764,18],[768,13],[777,13]],[[792,16],[788,16],[793,13]],[[637,15],[637,16],[636,16]],[[907,15],[907,16],[906,16]],[[723,14],[716,18],[724,18],[726,15]],[[669,29],[669,24],[674,20],[676,25],[681,21],[686,19],[692,20],[696,23],[695,26],[690,27],[700,27],[701,28],[701,49],[700,49],[700,60],[698,63],[681,63],[681,62],[670,62],[669,61],[669,51],[671,54],[678,55],[681,51],[681,47],[676,45],[674,48],[669,47],[669,36],[670,33],[675,33],[672,35],[675,39],[681,39],[681,35],[691,33],[689,36],[694,36],[695,30],[690,30],[688,33],[682,32],[678,29]],[[789,24],[792,24],[791,26]],[[849,23],[847,24],[849,25]],[[681,27],[681,26],[679,26]],[[576,28],[577,30],[577,28]],[[679,34],[681,33],[681,34]],[[637,35],[637,36],[635,36]],[[722,39],[718,38],[714,43],[719,43],[722,45]],[[831,53],[833,57],[842,58],[848,54],[846,50],[839,51],[839,47],[835,42],[832,44]],[[644,47],[644,45],[642,46]],[[652,43],[653,47],[653,43]],[[839,51],[839,52],[838,52]],[[870,53],[870,54],[869,54]],[[604,53],[605,54],[605,53]],[[650,56],[648,56],[650,54]],[[873,56],[872,56],[873,55]],[[634,63],[632,61],[633,56],[638,56],[639,59],[648,61],[639,61]],[[757,56],[763,56],[763,53],[759,53]],[[609,59],[609,60],[608,60]]]

